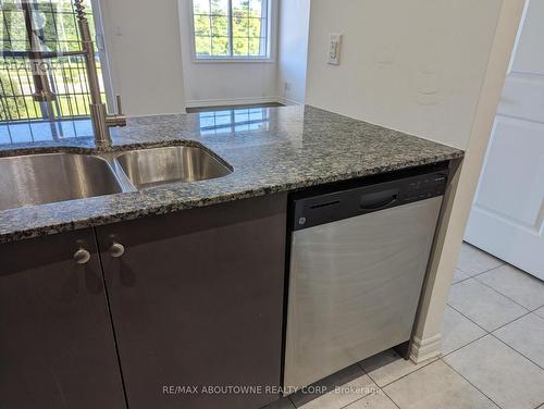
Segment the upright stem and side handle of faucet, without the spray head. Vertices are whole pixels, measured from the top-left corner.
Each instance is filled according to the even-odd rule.
[[[107,148],[111,146],[110,127],[125,126],[126,116],[122,113],[123,109],[121,106],[121,97],[119,95],[115,98],[118,113],[108,113],[106,103],[102,102],[97,64],[95,61],[95,46],[90,35],[89,22],[85,16],[83,0],[75,0],[74,5],[77,13],[79,34],[82,36],[82,54],[85,58],[87,67],[87,79],[90,94],[90,119],[92,121],[92,131],[95,132],[95,141],[98,148]]]

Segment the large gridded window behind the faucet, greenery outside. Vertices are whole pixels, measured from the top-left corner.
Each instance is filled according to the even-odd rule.
[[[92,34],[95,4],[97,2],[94,0],[85,1],[86,16]],[[81,49],[73,0],[0,0],[0,122],[88,116],[90,96],[84,59],[63,54]],[[32,32],[26,29],[27,26],[32,26]],[[57,52],[58,55],[47,60],[32,59],[29,51],[33,35],[39,38],[36,50]],[[95,50],[98,50],[96,44]],[[101,51],[97,51],[100,88],[104,90],[102,70],[106,66],[101,64]],[[55,95],[53,101],[37,102],[33,98],[36,90],[33,74],[36,70],[47,72],[49,86]],[[104,94],[102,97],[106,99]],[[67,122],[58,127],[58,135],[65,135],[66,124]],[[16,129],[23,127],[1,126],[0,142],[9,132],[12,132],[10,137],[13,136],[13,140],[18,141]],[[44,134],[40,129],[45,129],[46,134],[49,132],[36,125],[34,131],[30,129],[30,135],[39,138]]]

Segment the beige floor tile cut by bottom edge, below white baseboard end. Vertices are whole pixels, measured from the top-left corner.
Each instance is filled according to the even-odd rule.
[[[410,373],[384,391],[403,409],[497,408],[443,361]]]

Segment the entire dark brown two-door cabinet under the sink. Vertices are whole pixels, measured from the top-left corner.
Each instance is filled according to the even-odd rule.
[[[273,195],[0,245],[0,408],[275,400],[285,208]]]

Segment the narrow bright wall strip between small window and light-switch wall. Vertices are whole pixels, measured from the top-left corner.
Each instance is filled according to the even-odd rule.
[[[282,102],[304,103],[310,0],[281,0],[279,20],[276,95]]]

